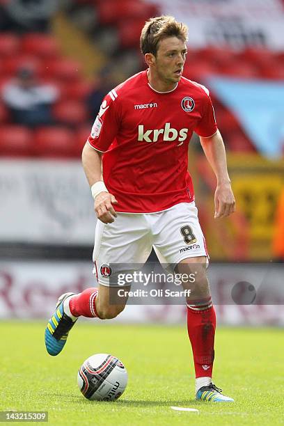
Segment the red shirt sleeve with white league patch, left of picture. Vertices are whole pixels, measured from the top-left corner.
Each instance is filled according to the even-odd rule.
[[[106,152],[109,149],[120,128],[117,95],[113,93],[116,95],[115,90],[111,90],[104,97],[88,137],[88,143],[100,152]]]

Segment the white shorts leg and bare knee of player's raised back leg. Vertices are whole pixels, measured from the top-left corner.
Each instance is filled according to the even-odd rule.
[[[93,303],[97,317],[116,317],[125,308],[129,285],[120,283],[120,275],[132,274],[143,265],[152,250],[152,239],[144,214],[118,214],[109,224],[98,225],[93,260],[99,289]],[[99,244],[98,244],[99,242]]]

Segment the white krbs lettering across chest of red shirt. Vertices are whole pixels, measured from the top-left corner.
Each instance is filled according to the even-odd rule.
[[[145,142],[157,142],[160,134],[163,135],[163,141],[178,141],[183,142],[187,139],[187,133],[189,129],[184,128],[180,129],[178,132],[177,129],[171,128],[171,123],[166,123],[164,129],[154,129],[144,131],[144,125],[138,126],[138,141]]]

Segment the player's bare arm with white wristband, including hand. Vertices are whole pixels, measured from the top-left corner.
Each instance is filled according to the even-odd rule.
[[[112,223],[117,216],[113,204],[118,203],[115,196],[107,191],[102,178],[102,153],[93,149],[87,142],[82,152],[82,163],[92,195],[97,219]]]

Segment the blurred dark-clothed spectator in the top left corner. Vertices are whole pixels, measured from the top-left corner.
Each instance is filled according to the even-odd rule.
[[[0,31],[47,32],[58,8],[56,0],[6,0],[1,2]]]

